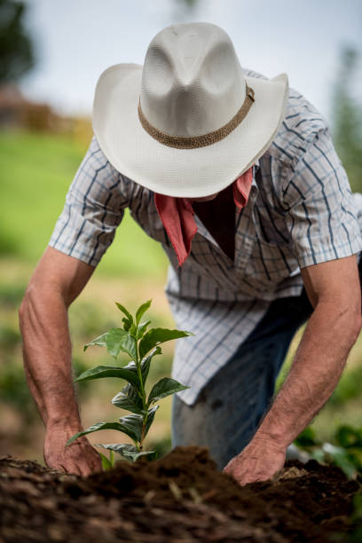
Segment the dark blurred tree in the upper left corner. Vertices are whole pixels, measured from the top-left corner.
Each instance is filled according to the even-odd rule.
[[[25,12],[24,2],[0,0],[0,85],[18,81],[35,64]]]

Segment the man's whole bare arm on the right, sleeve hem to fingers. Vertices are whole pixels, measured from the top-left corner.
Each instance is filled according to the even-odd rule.
[[[224,468],[240,484],[269,479],[284,466],[287,446],[334,391],[361,330],[356,256],[308,266],[302,277],[314,311],[269,413]]]

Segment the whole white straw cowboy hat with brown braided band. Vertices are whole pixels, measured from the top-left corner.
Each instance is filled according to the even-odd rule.
[[[143,67],[100,75],[93,129],[115,169],[155,193],[199,198],[246,171],[275,138],[287,75],[243,74],[230,37],[209,23],[153,38]]]

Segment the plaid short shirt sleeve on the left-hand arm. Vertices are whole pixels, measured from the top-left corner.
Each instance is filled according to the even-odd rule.
[[[69,187],[50,247],[96,266],[128,205],[130,180],[107,161],[96,138]]]

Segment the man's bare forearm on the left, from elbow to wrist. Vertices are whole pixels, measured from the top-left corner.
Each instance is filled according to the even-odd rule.
[[[30,287],[20,309],[20,328],[28,387],[44,424],[80,427],[62,296]]]

